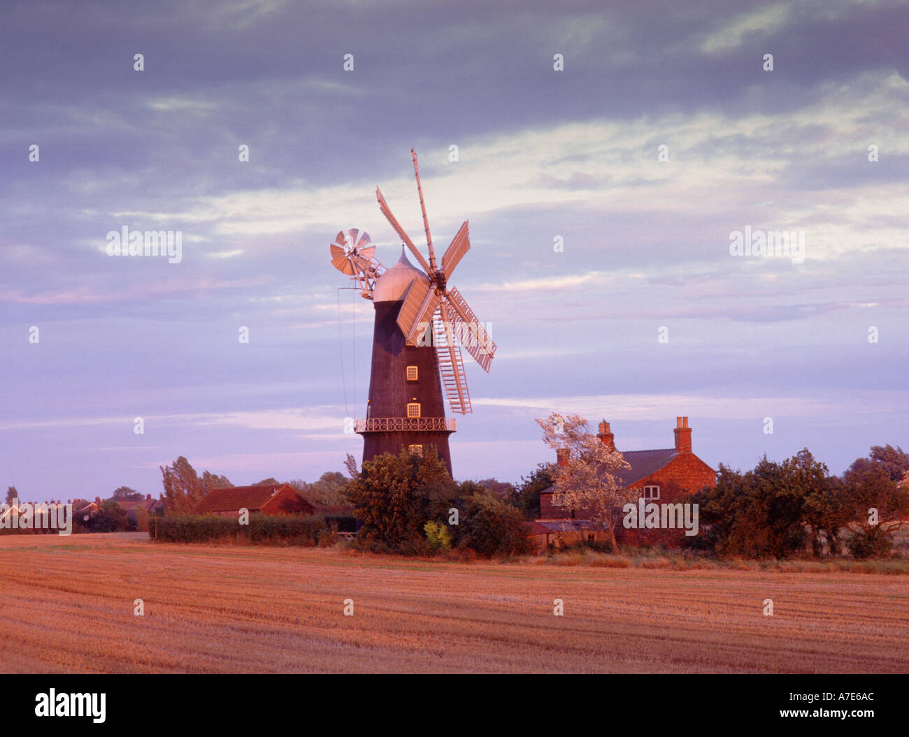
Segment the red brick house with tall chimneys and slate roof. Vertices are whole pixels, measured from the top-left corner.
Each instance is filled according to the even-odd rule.
[[[688,418],[675,418],[674,447],[657,448],[654,450],[628,450],[622,457],[629,466],[628,470],[619,471],[615,477],[623,488],[634,489],[640,492],[640,497],[645,503],[671,504],[682,501],[682,497],[695,491],[700,491],[704,486],[716,486],[716,472],[707,466],[703,460],[694,455],[691,443],[691,427],[688,427]],[[614,435],[605,420],[600,423],[597,433],[600,442],[611,450],[615,449]],[[622,451],[620,451],[622,452]],[[564,466],[564,454],[558,454],[558,463]],[[566,509],[559,506],[554,498],[554,487],[550,486],[540,492],[540,518],[536,520],[541,525],[555,520],[573,521],[577,530],[559,537],[562,544],[577,542],[581,535],[586,535],[588,540],[604,539],[604,534],[596,534],[592,530],[582,529],[579,523],[584,520],[583,511]],[[615,528],[616,540],[629,545],[652,545],[664,543],[678,545],[684,531],[679,529],[625,529],[621,522]]]

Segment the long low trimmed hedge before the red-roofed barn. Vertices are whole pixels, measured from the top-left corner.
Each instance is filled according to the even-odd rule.
[[[272,545],[322,544],[334,531],[322,516],[259,515],[249,516],[248,525],[233,517],[215,515],[175,515],[149,517],[152,539],[165,543],[204,543],[234,537],[252,543]]]

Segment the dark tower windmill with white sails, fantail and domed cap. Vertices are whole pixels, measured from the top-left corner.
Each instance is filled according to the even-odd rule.
[[[402,241],[400,260],[386,270],[375,259],[375,246],[368,234],[352,228],[339,232],[331,244],[332,264],[351,277],[361,296],[373,300],[375,307],[369,404],[366,418],[355,423],[356,432],[365,439],[364,460],[397,453],[402,446],[422,452],[431,444],[450,473],[448,436],[455,431],[455,423],[445,418],[442,390],[452,412],[472,412],[461,349],[489,371],[495,343],[461,293],[449,285],[454,268],[470,250],[467,221],[455,233],[439,267],[413,149],[411,155],[429,260],[416,248],[376,187],[379,210]],[[407,260],[405,249],[422,270]]]

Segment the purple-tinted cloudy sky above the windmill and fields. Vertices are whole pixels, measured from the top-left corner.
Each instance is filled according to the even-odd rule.
[[[180,456],[235,485],[359,460],[373,306],[328,246],[356,227],[394,264],[379,186],[425,252],[412,147],[438,250],[470,221],[452,284],[498,346],[466,367],[457,479],[553,460],[552,411],[619,450],[687,416],[714,468],[909,448],[906,2],[4,15],[0,486],[23,499],[158,496]],[[179,232],[181,260],[108,255],[124,228]],[[771,231],[804,252],[731,251]]]

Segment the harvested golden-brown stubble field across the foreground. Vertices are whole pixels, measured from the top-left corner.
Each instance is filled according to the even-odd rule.
[[[909,672],[909,576],[543,563],[4,536],[0,670]]]

